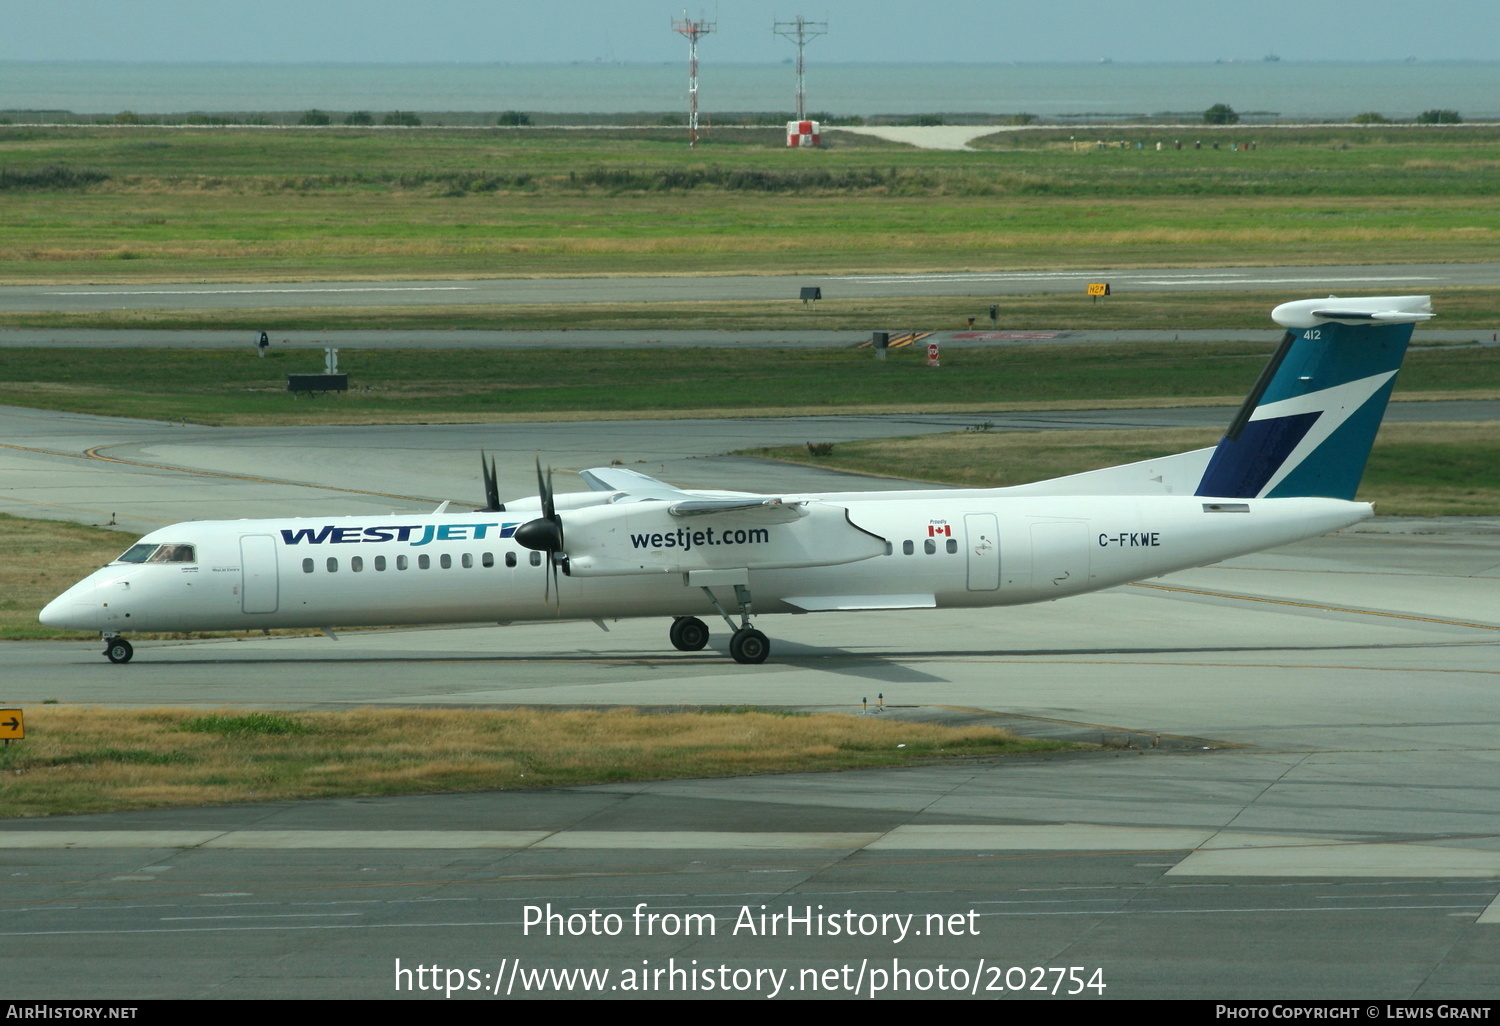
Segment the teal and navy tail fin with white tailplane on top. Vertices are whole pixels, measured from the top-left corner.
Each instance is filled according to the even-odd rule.
[[[1299,300],[1290,328],[1209,459],[1198,495],[1353,500],[1426,296]]]

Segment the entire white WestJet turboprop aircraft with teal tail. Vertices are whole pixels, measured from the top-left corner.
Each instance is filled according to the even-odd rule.
[[[621,468],[588,492],[428,516],[189,522],[78,582],[42,622],[126,632],[672,618],[682,651],[766,614],[1050,602],[1356,524],[1354,502],[1425,296],[1284,303],[1287,328],[1216,447],[988,489],[750,495]],[[734,610],[734,612],[730,612]],[[736,618],[738,616],[738,622]]]

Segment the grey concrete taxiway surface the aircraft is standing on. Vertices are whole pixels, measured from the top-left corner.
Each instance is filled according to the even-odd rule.
[[[1396,404],[1392,416],[1425,406]],[[1029,414],[1006,426],[1180,426],[1228,412]],[[423,508],[477,498],[486,436],[504,492],[534,490],[536,452],[574,468],[621,459],[686,484],[849,489],[862,478],[723,453],[812,429],[912,435],[969,420],[308,438],[4,410],[0,506],[36,516],[51,502],[70,519],[110,510],[136,530]],[[1034,969],[1042,990],[1056,981],[1066,996],[1077,968],[1072,999],[1492,1000],[1497,578],[1497,520],[1377,519],[1060,603],[765,618],[776,652],[762,666],[729,662],[723,630],[705,652],[675,652],[654,621],[142,642],[128,666],[94,644],[4,644],[0,680],[18,705],[858,711],[880,696],[892,718],[1004,723],[1106,747],[894,772],[9,820],[0,986],[16,998],[446,993],[417,986],[423,966],[442,974],[422,982],[456,981],[454,998],[1005,998],[1040,996]],[[550,936],[525,926],[528,906],[548,904],[564,916]],[[638,927],[642,904],[654,932]],[[812,934],[789,909],[855,933]],[[566,916],[596,910],[621,916],[621,932],[567,930]],[[783,915],[772,936],[756,926],[762,912]],[[896,939],[902,922],[910,932]],[[1095,974],[1102,990],[1086,986]]]

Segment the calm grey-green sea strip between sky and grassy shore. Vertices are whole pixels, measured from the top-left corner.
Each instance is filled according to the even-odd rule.
[[[705,58],[704,111],[795,104],[789,62]],[[687,62],[0,62],[0,110],[148,114],[254,111],[666,112],[686,106]],[[1149,117],[1228,104],[1280,118],[1424,110],[1500,118],[1500,62],[808,62],[807,108],[834,116]]]

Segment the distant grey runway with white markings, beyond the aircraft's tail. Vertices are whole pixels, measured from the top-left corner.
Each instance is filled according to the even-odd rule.
[[[1023,296],[1078,292],[1089,282],[1113,290],[1370,291],[1401,296],[1438,286],[1491,286],[1500,264],[1371,264],[1362,267],[1210,267],[1070,272],[957,272],[940,274],[726,274],[681,278],[552,278],[405,282],[266,282],[141,285],[8,285],[0,312],[216,310],[338,306],[462,306],[495,303],[687,303],[795,300],[806,286],[824,298],[912,296]]]

